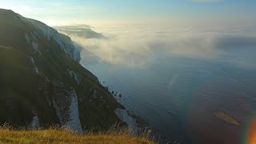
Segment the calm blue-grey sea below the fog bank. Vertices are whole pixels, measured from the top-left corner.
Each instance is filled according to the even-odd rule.
[[[225,51],[203,58],[154,50],[146,66],[127,66],[95,61],[83,50],[81,64],[103,86],[122,94],[118,102],[149,119],[150,127],[170,142],[239,143],[256,114],[256,47]],[[217,118],[215,111],[240,126]]]

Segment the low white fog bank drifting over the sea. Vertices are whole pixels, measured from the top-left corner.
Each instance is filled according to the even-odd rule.
[[[159,54],[186,58],[218,58],[230,50],[256,48],[256,37],[245,28],[113,26],[94,28],[106,38],[81,38],[74,42],[88,54],[110,64],[146,66]],[[86,58],[85,58],[86,59]]]

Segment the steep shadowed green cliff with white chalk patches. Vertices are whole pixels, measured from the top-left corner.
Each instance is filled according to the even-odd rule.
[[[0,124],[82,132],[122,122],[123,109],[78,62],[80,50],[50,26],[0,9]]]

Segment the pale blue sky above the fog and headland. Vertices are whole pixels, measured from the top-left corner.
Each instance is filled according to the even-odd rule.
[[[46,24],[102,22],[256,23],[255,0],[0,0]]]

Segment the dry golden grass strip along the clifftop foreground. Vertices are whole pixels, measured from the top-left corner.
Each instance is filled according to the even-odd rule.
[[[65,129],[13,130],[0,129],[0,143],[154,143],[146,138],[130,136],[127,132],[105,134],[74,134]]]

